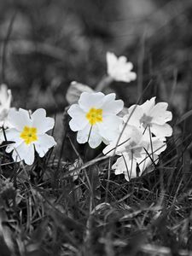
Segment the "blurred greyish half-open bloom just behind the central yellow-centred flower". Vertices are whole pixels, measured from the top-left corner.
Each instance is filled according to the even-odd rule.
[[[79,101],[79,97],[82,94],[82,92],[94,92],[94,90],[92,90],[90,88],[90,86],[85,85],[85,84],[80,84],[76,81],[73,81],[67,90],[67,94],[66,94],[66,99],[67,102],[72,105],[74,103],[77,103]]]

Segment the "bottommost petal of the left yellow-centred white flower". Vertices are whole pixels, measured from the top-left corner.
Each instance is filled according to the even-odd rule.
[[[14,149],[12,157],[15,162],[20,162],[20,160],[24,160],[26,162],[26,165],[31,166],[34,162],[33,144],[26,145],[26,143],[21,143],[17,148]]]

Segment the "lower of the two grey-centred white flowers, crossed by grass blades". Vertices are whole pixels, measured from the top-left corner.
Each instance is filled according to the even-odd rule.
[[[129,181],[132,177],[137,177],[137,166],[141,175],[153,162],[158,162],[159,154],[165,149],[164,138],[149,137],[137,127],[126,125],[120,139],[117,138],[104,148],[103,154],[120,155],[112,169],[116,175],[123,173]]]

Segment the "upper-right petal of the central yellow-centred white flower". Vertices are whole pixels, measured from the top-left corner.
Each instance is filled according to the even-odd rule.
[[[117,114],[124,108],[124,102],[121,100],[115,101],[115,93],[110,93],[105,96],[102,104],[103,115]]]

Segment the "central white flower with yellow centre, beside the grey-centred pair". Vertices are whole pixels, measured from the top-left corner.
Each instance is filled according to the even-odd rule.
[[[119,135],[119,125],[122,120],[117,116],[124,103],[115,100],[115,94],[105,96],[102,92],[83,92],[79,104],[73,104],[68,114],[72,131],[78,131],[79,143],[90,144],[96,148],[100,143],[109,143]]]

